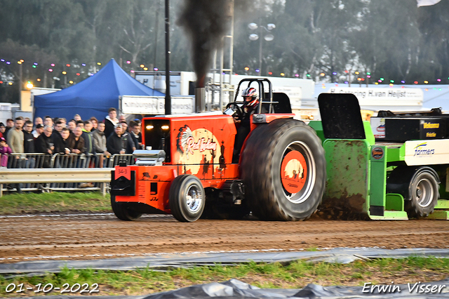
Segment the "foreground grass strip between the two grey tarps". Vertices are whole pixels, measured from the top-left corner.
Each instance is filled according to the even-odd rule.
[[[213,281],[239,279],[260,288],[303,288],[307,284],[321,286],[363,286],[372,284],[415,284],[449,277],[448,258],[404,259],[385,258],[379,260],[358,260],[349,264],[308,263],[297,260],[288,265],[280,263],[247,263],[236,266],[205,266],[188,269],[174,269],[158,272],[143,268],[135,271],[69,270],[48,273],[41,277],[0,277],[0,297],[20,297],[33,295],[60,295],[60,290],[44,293],[40,288],[50,289],[64,285],[68,290],[76,290],[79,284],[92,290],[98,284],[98,293],[90,295],[146,295],[161,291],[184,288],[195,284],[208,284]],[[15,289],[13,289],[15,286]],[[9,292],[6,292],[8,288]],[[16,292],[22,288],[22,292]],[[32,290],[27,290],[32,288]],[[13,291],[11,291],[13,289]],[[66,295],[80,295],[79,291]],[[89,294],[89,293],[81,293]]]

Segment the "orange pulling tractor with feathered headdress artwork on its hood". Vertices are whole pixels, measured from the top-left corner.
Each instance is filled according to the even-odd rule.
[[[244,79],[260,95],[250,133],[233,157],[243,102],[227,111],[165,115],[142,120],[142,143],[134,165],[112,171],[111,204],[121,220],[142,213],[171,213],[182,222],[241,218],[304,220],[321,203],[326,160],[313,128],[293,119],[290,100],[273,93],[267,79]],[[268,113],[262,113],[267,111]],[[232,163],[238,161],[238,163]],[[235,159],[237,158],[237,159]]]

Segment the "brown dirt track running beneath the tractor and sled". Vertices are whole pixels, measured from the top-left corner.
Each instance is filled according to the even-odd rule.
[[[199,220],[110,213],[0,216],[0,263],[98,259],[149,253],[373,247],[448,248],[449,222],[438,220],[302,222]]]

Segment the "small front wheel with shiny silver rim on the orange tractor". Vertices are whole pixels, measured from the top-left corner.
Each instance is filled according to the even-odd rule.
[[[181,222],[194,222],[201,217],[206,197],[203,185],[195,175],[179,175],[173,180],[168,194],[173,216]]]

